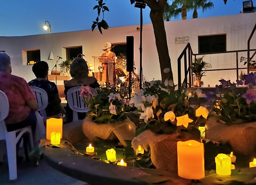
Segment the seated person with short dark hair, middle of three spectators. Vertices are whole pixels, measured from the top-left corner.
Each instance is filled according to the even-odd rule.
[[[47,117],[62,118],[62,114],[66,114],[65,109],[61,104],[57,86],[47,80],[49,67],[47,62],[40,61],[33,65],[32,71],[36,78],[30,81],[29,86],[39,87],[44,89],[48,95],[48,105],[46,107]]]

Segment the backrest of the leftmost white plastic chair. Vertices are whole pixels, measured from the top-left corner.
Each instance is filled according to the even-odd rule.
[[[9,101],[6,94],[3,91],[0,91],[0,140],[5,139],[5,118],[9,114]]]

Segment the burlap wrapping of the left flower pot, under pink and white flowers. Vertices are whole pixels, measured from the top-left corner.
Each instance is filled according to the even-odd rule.
[[[122,123],[98,124],[88,116],[83,120],[82,130],[91,141],[95,141],[96,137],[108,139],[113,133],[123,146],[127,146],[124,140],[134,139],[136,126],[129,118]]]

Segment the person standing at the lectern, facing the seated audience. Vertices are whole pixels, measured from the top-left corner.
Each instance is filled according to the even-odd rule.
[[[116,55],[111,51],[112,45],[110,42],[105,43],[105,52],[101,55],[104,57],[104,62],[102,63],[103,71],[102,71],[102,82],[106,84],[114,84],[115,82],[115,61]]]

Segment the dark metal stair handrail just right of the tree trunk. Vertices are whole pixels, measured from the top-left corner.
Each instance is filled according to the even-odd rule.
[[[187,50],[188,50],[188,56],[189,56],[188,57],[188,69],[187,69]],[[186,47],[183,49],[183,51],[181,52],[181,54],[178,58],[178,87],[181,87],[181,59],[183,56],[184,56],[184,68],[185,68],[184,74],[187,74],[187,72],[188,72],[189,73],[189,83],[192,82],[192,78],[191,78],[192,55],[193,55],[193,51],[191,49],[190,43],[187,43]],[[183,82],[186,83],[186,87],[187,87],[187,75],[185,75]]]

